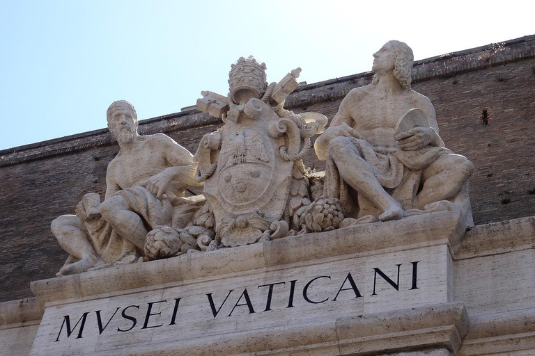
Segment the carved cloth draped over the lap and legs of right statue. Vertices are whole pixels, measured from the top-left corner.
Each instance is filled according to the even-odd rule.
[[[403,151],[397,147],[373,147],[359,138],[349,140],[381,186],[401,203],[403,209],[413,208],[412,200],[419,188],[421,171],[438,156],[452,153],[445,147],[427,146],[416,151]],[[343,180],[330,154],[325,167],[324,195],[339,199],[349,217],[366,215],[360,205],[371,204]]]

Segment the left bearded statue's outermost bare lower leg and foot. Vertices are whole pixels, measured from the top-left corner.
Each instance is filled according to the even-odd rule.
[[[52,221],[50,229],[61,248],[78,259],[78,261],[71,264],[65,264],[56,275],[82,273],[89,268],[104,264],[104,261],[98,257],[93,245],[89,242],[84,222],[77,216],[59,216],[59,218]]]

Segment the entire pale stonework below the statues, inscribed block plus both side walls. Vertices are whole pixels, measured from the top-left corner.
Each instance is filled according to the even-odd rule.
[[[465,230],[430,213],[34,282],[0,303],[0,355],[533,355],[535,219]]]

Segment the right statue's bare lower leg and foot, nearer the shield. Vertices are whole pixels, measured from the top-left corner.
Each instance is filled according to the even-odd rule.
[[[373,175],[371,165],[364,161],[357,147],[348,138],[340,136],[332,139],[329,142],[329,156],[334,159],[342,179],[381,209],[380,220],[398,220],[403,217],[401,205],[382,188]]]

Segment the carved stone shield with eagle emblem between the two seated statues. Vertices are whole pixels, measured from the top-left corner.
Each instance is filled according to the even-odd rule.
[[[279,154],[284,138],[270,135],[270,123],[279,116],[259,100],[255,105],[254,118],[242,115],[237,122],[227,121],[219,131],[217,169],[204,185],[216,222],[255,211],[274,221],[284,213],[293,162],[284,161]]]

